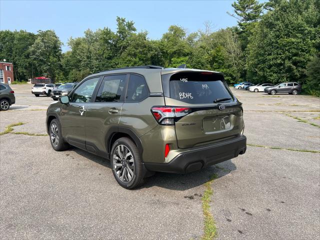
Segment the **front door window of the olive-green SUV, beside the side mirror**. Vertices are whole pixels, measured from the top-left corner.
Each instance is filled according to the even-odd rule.
[[[91,100],[92,93],[100,77],[88,79],[79,85],[71,96],[71,102],[88,102]]]

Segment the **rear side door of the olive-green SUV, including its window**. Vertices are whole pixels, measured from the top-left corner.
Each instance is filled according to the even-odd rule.
[[[117,131],[128,75],[105,75],[96,95],[88,104],[85,116],[86,149],[104,155],[108,152],[106,137]]]

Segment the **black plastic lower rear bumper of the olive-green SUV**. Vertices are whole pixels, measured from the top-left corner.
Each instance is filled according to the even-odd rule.
[[[181,152],[168,163],[144,162],[144,166],[150,171],[186,173],[229,160],[245,150],[246,137],[239,135],[232,140]]]

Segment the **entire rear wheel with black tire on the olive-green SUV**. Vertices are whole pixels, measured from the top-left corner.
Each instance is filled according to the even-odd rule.
[[[117,153],[118,152],[117,150],[120,149],[121,151],[122,146],[123,146],[123,152],[124,153],[126,152],[125,153],[126,155],[128,153],[131,153],[131,155],[129,155],[126,158],[123,157],[123,159],[120,159],[120,155]],[[114,156],[116,156],[116,158]],[[140,157],[138,148],[130,138],[120,137],[113,143],[112,149],[111,149],[111,155],[110,155],[110,162],[111,162],[113,176],[120,186],[126,189],[133,189],[144,183],[144,180],[145,180],[144,176],[146,175],[147,171],[144,168],[144,165],[141,163],[141,157]],[[119,165],[115,166],[115,164],[119,164]],[[118,173],[115,169],[116,167],[118,167],[117,168]],[[129,173],[129,170],[127,170],[128,168],[133,174]],[[122,180],[120,179],[121,173],[122,173]],[[131,179],[129,179],[128,175],[131,175]]]

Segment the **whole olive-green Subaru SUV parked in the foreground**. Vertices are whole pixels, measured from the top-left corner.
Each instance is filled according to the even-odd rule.
[[[110,159],[131,189],[155,171],[192,172],[243,154],[242,114],[222,73],[150,65],[85,77],[49,105],[46,126],[54,150],[70,144]]]

